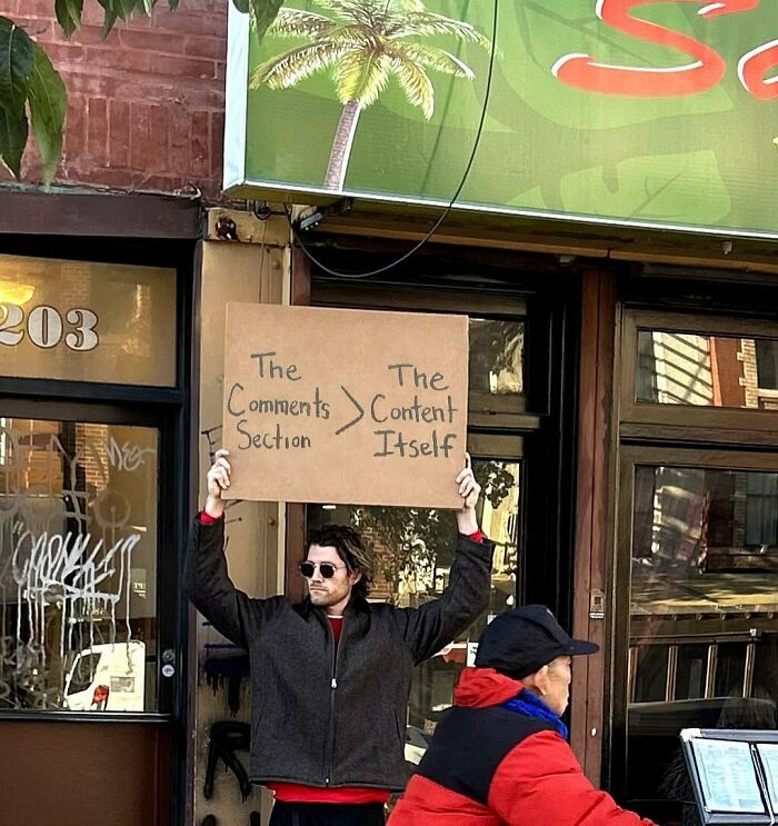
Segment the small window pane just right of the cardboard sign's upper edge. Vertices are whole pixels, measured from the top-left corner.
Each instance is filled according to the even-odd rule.
[[[470,318],[470,392],[523,394],[523,321]]]

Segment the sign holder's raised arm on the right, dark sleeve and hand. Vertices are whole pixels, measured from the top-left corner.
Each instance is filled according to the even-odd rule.
[[[482,539],[476,505],[481,488],[470,468],[470,457],[457,476],[462,507],[457,511],[457,553],[448,586],[440,597],[419,608],[401,608],[402,634],[418,665],[431,657],[470,625],[489,605],[492,543]],[[480,535],[480,541],[468,538]]]

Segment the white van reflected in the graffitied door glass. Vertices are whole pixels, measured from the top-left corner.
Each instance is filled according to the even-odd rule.
[[[71,711],[142,711],[146,644],[107,643],[76,655],[64,678],[64,707]]]

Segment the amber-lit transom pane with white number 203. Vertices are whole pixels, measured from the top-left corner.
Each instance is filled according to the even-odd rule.
[[[0,255],[0,375],[171,387],[176,271]]]

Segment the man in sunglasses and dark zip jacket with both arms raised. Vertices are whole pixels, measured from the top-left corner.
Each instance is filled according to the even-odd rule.
[[[456,478],[461,507],[449,584],[419,608],[370,604],[361,538],[330,526],[310,537],[300,574],[308,596],[252,599],[229,579],[223,554],[226,450],[208,471],[208,498],[189,553],[189,593],[200,613],[249,651],[250,777],[275,792],[271,826],[378,826],[406,782],[406,706],[412,668],[488,605],[493,546],[478,528],[480,486]]]

